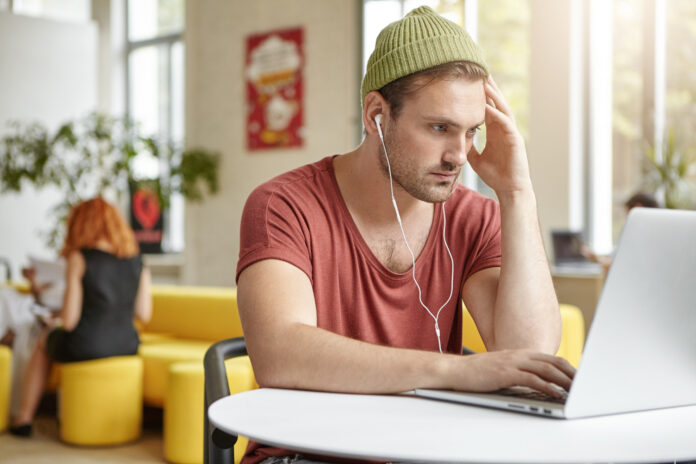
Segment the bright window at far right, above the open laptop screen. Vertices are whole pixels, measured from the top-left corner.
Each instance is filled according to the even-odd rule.
[[[696,124],[696,3],[689,0],[613,2],[613,218],[618,239],[625,201],[636,191],[655,192],[646,170],[646,149],[664,142],[693,155]],[[696,160],[695,160],[696,161]],[[696,206],[695,167],[674,194],[657,189],[668,207]]]

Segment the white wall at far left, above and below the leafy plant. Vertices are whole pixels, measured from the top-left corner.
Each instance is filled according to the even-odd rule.
[[[0,13],[0,136],[7,122],[38,121],[55,129],[96,105],[97,29]],[[52,256],[39,237],[48,211],[60,197],[32,188],[0,194],[0,256],[10,259],[15,278],[28,253]],[[0,274],[0,278],[3,276]]]

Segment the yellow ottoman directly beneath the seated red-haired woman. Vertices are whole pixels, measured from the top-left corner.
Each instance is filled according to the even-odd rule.
[[[143,361],[115,356],[60,365],[60,437],[75,445],[116,445],[140,436]]]

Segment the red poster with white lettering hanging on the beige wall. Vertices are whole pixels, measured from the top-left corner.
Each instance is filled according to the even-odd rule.
[[[247,149],[301,147],[303,141],[303,30],[247,37]]]

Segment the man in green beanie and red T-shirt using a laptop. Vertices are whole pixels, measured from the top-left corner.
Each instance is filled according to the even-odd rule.
[[[525,385],[558,396],[554,385],[569,388],[574,371],[552,356],[560,315],[524,143],[477,45],[418,8],[380,33],[362,98],[367,135],[355,151],[281,175],[247,201],[238,304],[258,383],[353,393]],[[499,206],[459,185],[467,161]],[[462,299],[489,353],[459,354]],[[256,444],[250,454],[244,462],[295,462]]]

